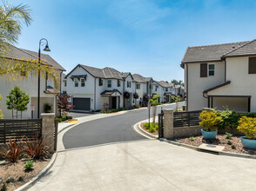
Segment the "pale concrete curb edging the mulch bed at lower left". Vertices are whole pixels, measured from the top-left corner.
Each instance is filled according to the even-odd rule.
[[[25,191],[25,190],[28,190],[29,188],[31,188],[34,184],[36,184],[37,181],[39,181],[49,171],[49,169],[53,166],[54,162],[56,161],[56,158],[57,158],[57,153],[54,153],[52,155],[52,158],[51,158],[51,161],[49,162],[49,164],[39,174],[37,174],[34,178],[32,178],[30,181],[25,183],[20,188],[17,188],[15,191]]]

